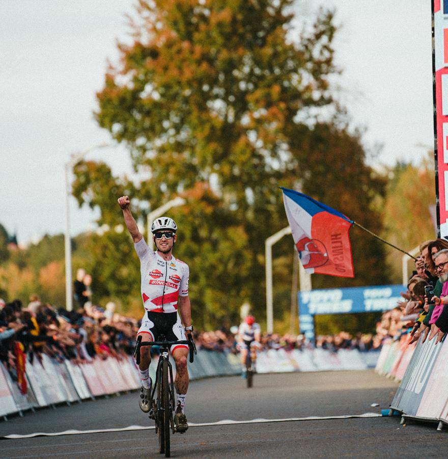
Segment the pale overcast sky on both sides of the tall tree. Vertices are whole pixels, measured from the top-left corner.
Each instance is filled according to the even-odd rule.
[[[64,232],[64,163],[109,142],[95,123],[95,92],[106,59],[126,35],[133,0],[0,1],[0,223],[19,243]],[[318,0],[297,10],[311,18]],[[431,6],[421,0],[330,0],[342,25],[338,97],[354,125],[367,126],[377,161],[418,162],[433,145]],[[122,147],[93,151],[114,173],[131,173]],[[94,228],[95,213],[71,199],[71,233]]]

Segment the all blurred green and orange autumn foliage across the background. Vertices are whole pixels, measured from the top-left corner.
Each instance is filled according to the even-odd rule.
[[[73,270],[92,274],[95,303],[113,300],[123,313],[142,314],[138,258],[117,205],[123,194],[139,222],[169,199],[186,199],[169,213],[179,226],[175,256],[190,265],[199,328],[238,323],[245,301],[265,323],[264,241],[287,225],[278,186],[310,194],[404,249],[434,237],[433,163],[370,165],[373,153],[330,83],[340,72],[333,12],[322,9],[305,25],[291,4],[137,2],[132,43],[118,44],[95,117],[127,146],[141,181],[114,176],[101,162],[74,167],[79,206],[100,210],[102,231],[72,240]],[[8,249],[10,239],[0,226],[0,294],[37,293],[63,305],[63,236],[22,250]],[[314,275],[313,288],[401,282],[399,252],[357,228],[351,242],[355,278]],[[273,247],[278,331],[290,327],[293,253],[291,237]],[[317,331],[373,331],[375,320],[319,317]]]

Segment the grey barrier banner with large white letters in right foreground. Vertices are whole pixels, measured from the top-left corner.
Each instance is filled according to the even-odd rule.
[[[419,338],[400,387],[391,403],[394,410],[416,416],[418,406],[425,393],[437,356],[442,346],[435,345],[434,340],[422,343]]]

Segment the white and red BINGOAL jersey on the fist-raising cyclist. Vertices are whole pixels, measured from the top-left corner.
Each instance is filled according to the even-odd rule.
[[[152,312],[176,312],[179,296],[188,295],[188,265],[174,257],[163,260],[149,249],[145,238],[134,246],[140,259],[143,307]]]

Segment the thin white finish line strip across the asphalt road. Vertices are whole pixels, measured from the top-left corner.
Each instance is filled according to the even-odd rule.
[[[204,422],[201,424],[188,423],[189,427],[205,427],[213,425],[234,425],[234,424],[262,424],[265,422],[292,422],[292,421],[324,421],[327,419],[350,419],[350,418],[380,418],[381,414],[378,413],[364,413],[360,415],[344,415],[344,416],[309,416],[306,418],[285,418],[285,419],[251,419],[249,421],[233,421],[232,419],[223,419],[217,422]],[[118,429],[96,429],[96,430],[64,430],[62,432],[36,432],[28,433],[27,435],[18,435],[17,433],[11,433],[11,435],[5,435],[0,439],[17,440],[22,438],[33,438],[33,437],[58,437],[61,435],[85,435],[86,433],[107,433],[107,432],[126,432],[130,430],[153,430],[155,426],[143,426],[143,425],[130,425],[128,427],[122,427]]]

